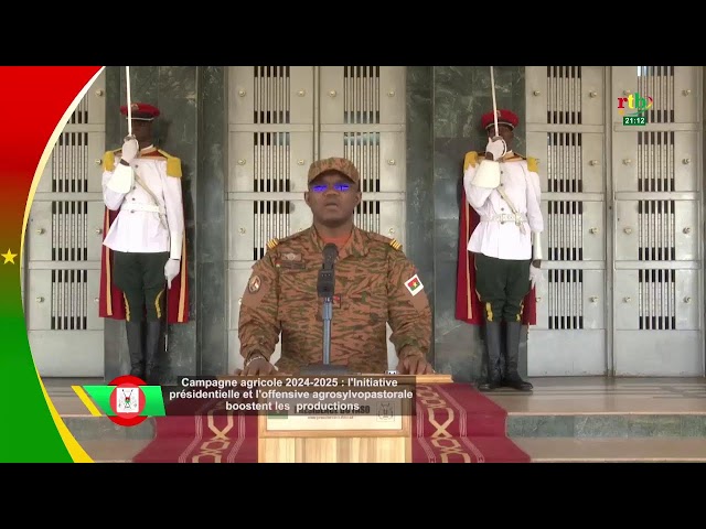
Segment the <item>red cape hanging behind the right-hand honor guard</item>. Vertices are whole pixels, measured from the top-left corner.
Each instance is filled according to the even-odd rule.
[[[467,159],[468,160],[468,159]],[[468,162],[467,162],[468,163]],[[466,166],[463,168],[466,170]],[[466,199],[466,188],[461,185],[461,207],[459,212],[459,261],[456,283],[456,319],[471,325],[482,325],[483,305],[475,293],[475,264],[473,252],[468,251],[468,241],[480,222],[478,212]],[[524,300],[523,325],[536,325],[537,301],[532,289]]]

